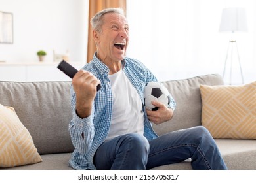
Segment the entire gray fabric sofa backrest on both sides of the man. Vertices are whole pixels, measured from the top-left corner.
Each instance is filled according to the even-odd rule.
[[[14,107],[20,121],[30,131],[39,154],[72,152],[68,124],[70,82],[0,82],[0,103]],[[154,125],[158,135],[201,125],[200,84],[220,85],[220,75],[204,75],[163,82],[177,103],[173,119]]]

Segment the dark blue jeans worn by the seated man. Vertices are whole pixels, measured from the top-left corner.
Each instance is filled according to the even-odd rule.
[[[227,169],[205,127],[192,127],[149,141],[142,135],[127,134],[104,142],[95,153],[96,169],[152,169],[191,158],[193,169]]]

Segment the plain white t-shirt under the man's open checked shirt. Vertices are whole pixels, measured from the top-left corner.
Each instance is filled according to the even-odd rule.
[[[106,141],[127,133],[144,133],[144,114],[139,94],[123,69],[108,75],[113,93],[113,112]]]

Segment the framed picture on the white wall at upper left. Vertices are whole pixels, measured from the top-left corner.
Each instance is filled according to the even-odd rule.
[[[0,43],[13,43],[12,13],[0,12]]]

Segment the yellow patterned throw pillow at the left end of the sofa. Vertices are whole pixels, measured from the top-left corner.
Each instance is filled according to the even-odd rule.
[[[41,162],[32,137],[14,108],[0,104],[0,167]]]

